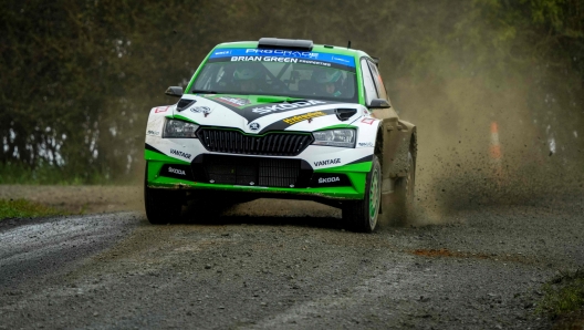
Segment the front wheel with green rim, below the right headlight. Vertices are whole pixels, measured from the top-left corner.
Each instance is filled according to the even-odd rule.
[[[373,233],[379,219],[382,199],[382,165],[373,156],[372,169],[367,174],[365,196],[362,200],[348,202],[343,206],[343,220],[358,233]]]

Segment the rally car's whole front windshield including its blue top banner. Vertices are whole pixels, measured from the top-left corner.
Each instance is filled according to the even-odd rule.
[[[305,52],[302,54],[307,59],[303,59],[284,51],[233,56],[236,51],[258,52],[216,51],[197,75],[190,93],[357,102],[355,65],[350,56]],[[216,56],[217,53],[226,55]]]

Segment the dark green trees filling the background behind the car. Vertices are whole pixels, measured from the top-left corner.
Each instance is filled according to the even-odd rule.
[[[397,104],[409,105],[400,79],[440,89],[480,75],[491,91],[526,84],[541,123],[562,124],[542,105],[549,99],[582,126],[583,8],[581,0],[7,1],[0,164],[54,167],[70,182],[137,181],[147,112],[176,102],[164,90],[186,85],[215,44],[261,37],[352,40],[382,58]]]

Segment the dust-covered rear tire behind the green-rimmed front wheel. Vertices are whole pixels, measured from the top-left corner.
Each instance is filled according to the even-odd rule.
[[[416,157],[413,151],[408,152],[408,169],[406,176],[399,177],[395,182],[395,206],[394,223],[406,225],[414,220],[414,190],[416,187]]]

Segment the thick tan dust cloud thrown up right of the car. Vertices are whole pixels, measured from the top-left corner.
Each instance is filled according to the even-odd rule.
[[[441,66],[436,72],[444,72],[440,69],[453,64],[442,59],[435,65]],[[540,109],[533,109],[528,78],[513,72],[497,84],[480,75],[399,81],[400,115],[415,123],[419,134],[415,225],[442,223],[445,215],[459,209],[553,207],[582,197],[577,127],[572,127],[566,110],[545,105],[544,95],[539,95]]]

